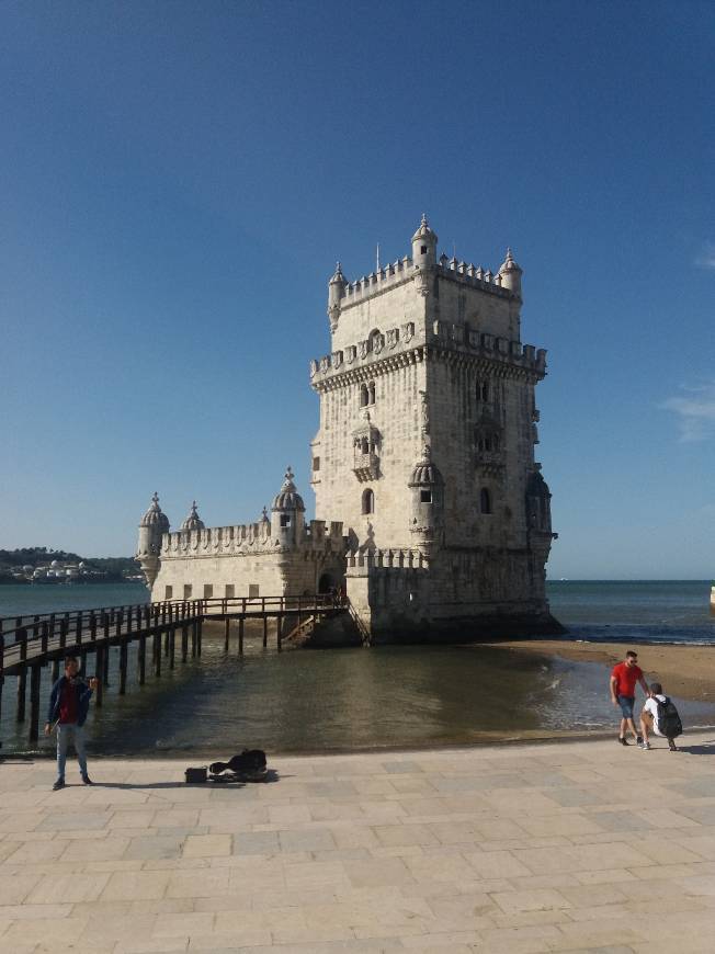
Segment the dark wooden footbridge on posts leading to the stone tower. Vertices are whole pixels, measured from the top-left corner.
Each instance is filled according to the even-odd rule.
[[[310,597],[227,597],[224,599],[185,600],[162,603],[140,603],[128,606],[105,606],[100,610],[76,610],[33,616],[0,618],[0,712],[5,678],[18,682],[15,719],[27,722],[27,740],[39,737],[39,697],[42,670],[52,667],[53,681],[59,675],[60,663],[68,654],[79,657],[81,672],[87,671],[87,657],[94,656],[94,672],[99,685],[94,703],[101,706],[104,689],[110,684],[110,648],[118,647],[118,694],[127,691],[129,647],[136,644],[138,685],[144,685],[147,661],[155,678],[161,677],[162,665],[174,668],[201,656],[202,628],[206,621],[223,621],[224,649],[230,648],[231,621],[238,621],[237,650],[243,652],[247,621],[262,623],[262,645],[269,645],[269,622],[274,621],[279,652],[285,643],[304,640],[317,622],[328,615],[350,613],[358,625],[363,644],[368,634],[344,601],[336,603],[325,594]],[[236,628],[236,627],[235,627]],[[273,627],[271,627],[273,628]],[[162,662],[166,660],[166,663]],[[30,675],[30,680],[27,677]],[[30,712],[26,712],[30,681]]]

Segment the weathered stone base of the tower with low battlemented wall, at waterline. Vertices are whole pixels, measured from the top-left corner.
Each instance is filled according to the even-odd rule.
[[[402,560],[402,563],[406,563]],[[429,563],[349,558],[347,593],[374,641],[555,635],[543,560],[532,550],[441,550]]]

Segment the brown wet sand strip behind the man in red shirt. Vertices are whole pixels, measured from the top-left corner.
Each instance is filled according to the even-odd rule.
[[[481,644],[485,645],[485,644]],[[648,683],[660,682],[665,692],[693,702],[715,699],[715,646],[662,646],[639,643],[569,643],[560,639],[513,639],[486,644],[512,652],[560,657],[574,662],[592,662],[608,670],[625,658],[628,649],[638,654],[638,666]]]

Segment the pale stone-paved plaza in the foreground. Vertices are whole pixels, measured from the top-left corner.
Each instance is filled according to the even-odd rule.
[[[682,742],[277,758],[245,787],[97,760],[58,793],[0,762],[0,951],[710,952],[715,738]]]

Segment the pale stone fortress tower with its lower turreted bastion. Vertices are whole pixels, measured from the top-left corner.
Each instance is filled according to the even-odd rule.
[[[328,282],[330,351],[310,362],[317,520],[292,470],[270,514],[169,533],[155,495],[138,558],[152,598],[297,595],[342,587],[373,636],[554,632],[551,493],[535,461],[546,352],[521,342],[522,270],[411,255]],[[161,521],[166,521],[166,525]]]

